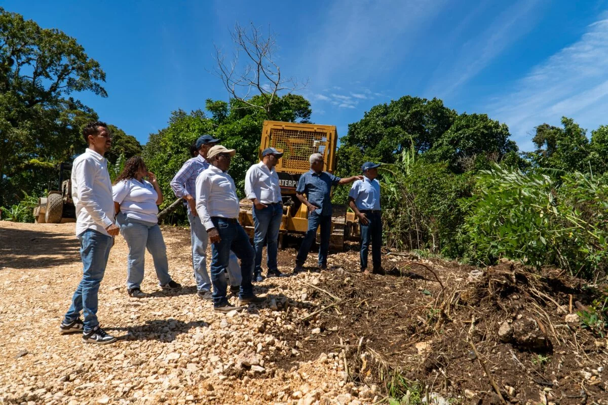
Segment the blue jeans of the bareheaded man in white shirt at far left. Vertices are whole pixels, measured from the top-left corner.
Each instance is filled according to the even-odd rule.
[[[82,259],[82,279],[72,296],[72,305],[67,310],[63,322],[69,324],[80,316],[85,316],[85,332],[99,325],[97,321],[97,292],[106,271],[108,256],[112,248],[111,236],[88,229],[78,235],[80,257]]]

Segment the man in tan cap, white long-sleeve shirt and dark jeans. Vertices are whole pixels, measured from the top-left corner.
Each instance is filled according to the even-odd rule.
[[[241,260],[240,304],[260,304],[266,301],[254,294],[251,276],[254,271],[255,251],[249,236],[238,223],[239,200],[237,188],[227,173],[234,149],[216,145],[207,152],[209,168],[196,177],[196,212],[209,234],[212,244],[211,282],[213,284],[213,309],[229,312],[236,307],[226,297],[226,270],[230,250]]]

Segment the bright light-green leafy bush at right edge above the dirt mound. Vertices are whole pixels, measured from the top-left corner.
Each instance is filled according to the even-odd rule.
[[[482,171],[461,241],[469,258],[492,264],[500,257],[541,267],[557,265],[592,278],[606,272],[608,187],[575,172],[560,180],[496,166]]]

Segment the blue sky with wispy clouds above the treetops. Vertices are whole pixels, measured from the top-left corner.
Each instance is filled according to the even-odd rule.
[[[141,143],[170,112],[227,100],[213,45],[235,22],[268,26],[313,121],[340,136],[402,95],[442,98],[508,124],[530,150],[534,126],[608,124],[608,0],[38,1],[5,10],[77,38],[106,72],[108,98],[76,97]]]

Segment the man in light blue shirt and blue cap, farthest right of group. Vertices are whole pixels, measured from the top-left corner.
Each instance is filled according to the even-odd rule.
[[[357,180],[348,193],[348,205],[359,217],[361,227],[361,271],[369,274],[367,270],[367,253],[371,243],[371,261],[373,273],[382,271],[381,245],[382,245],[382,217],[380,214],[380,183],[378,177],[378,164],[365,162],[361,166],[364,177]]]

